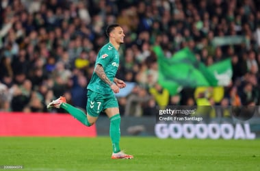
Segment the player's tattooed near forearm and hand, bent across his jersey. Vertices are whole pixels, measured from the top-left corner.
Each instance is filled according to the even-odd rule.
[[[113,90],[113,92],[115,92],[115,93],[119,92],[118,86],[107,78],[107,75],[105,74],[103,66],[101,66],[100,64],[97,64],[94,72],[96,73],[96,75],[99,76],[99,78],[102,81],[104,81],[105,83],[107,83],[110,86],[110,88]]]

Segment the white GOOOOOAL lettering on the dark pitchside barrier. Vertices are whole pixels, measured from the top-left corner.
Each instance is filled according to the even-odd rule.
[[[155,135],[159,138],[185,137],[198,139],[255,139],[250,124],[155,124]]]

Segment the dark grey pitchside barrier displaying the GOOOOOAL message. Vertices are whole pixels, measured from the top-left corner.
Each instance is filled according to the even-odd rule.
[[[121,116],[120,130],[122,136],[156,136],[162,139],[254,140],[260,137],[259,116],[254,116],[249,120],[222,117],[207,118],[204,116],[202,117],[203,120],[199,122],[194,118],[197,117],[190,117],[190,121],[168,120],[157,122],[156,116]],[[96,122],[96,131],[98,135],[109,135],[109,119],[107,116],[99,117]]]

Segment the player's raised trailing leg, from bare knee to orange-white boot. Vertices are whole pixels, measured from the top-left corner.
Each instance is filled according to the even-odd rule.
[[[66,103],[66,98],[64,96],[57,98],[57,100],[52,101],[51,103],[49,103],[49,105],[47,105],[47,108],[51,107],[65,109],[74,118],[79,120],[79,122],[85,124],[88,127],[94,124],[94,122],[96,122],[97,120],[97,117],[86,115],[85,112],[81,109],[78,109],[77,107],[73,107],[72,105]]]

